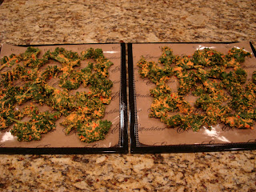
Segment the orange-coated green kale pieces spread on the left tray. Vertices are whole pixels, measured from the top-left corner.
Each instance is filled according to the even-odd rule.
[[[28,47],[22,54],[11,54],[0,61],[0,130],[5,130],[12,124],[10,133],[17,136],[18,141],[40,140],[56,127],[56,121],[65,116],[61,123],[66,127],[66,134],[76,130],[82,142],[95,142],[105,138],[110,130],[111,122],[102,120],[106,105],[111,101],[109,68],[113,65],[101,49],[90,48],[76,52],[57,47],[53,52],[48,50],[39,58],[40,50]],[[83,69],[78,69],[84,60],[89,62]],[[47,66],[50,60],[59,62]],[[46,67],[42,67],[46,66]],[[50,86],[51,78],[59,78],[59,89]],[[70,90],[87,87],[89,91]],[[40,112],[34,104],[17,110],[25,102],[46,105],[52,111]],[[30,117],[28,122],[22,118]]]

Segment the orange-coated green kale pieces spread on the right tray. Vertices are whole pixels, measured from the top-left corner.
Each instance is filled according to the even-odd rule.
[[[232,48],[227,54],[205,48],[192,56],[174,55],[170,47],[162,47],[158,62],[148,62],[142,56],[137,63],[142,78],[155,84],[150,90],[154,98],[151,118],[160,118],[169,127],[198,131],[218,122],[236,128],[251,128],[256,119],[256,72],[246,84],[247,74],[242,62],[251,54]],[[178,92],[167,85],[175,76]],[[194,106],[184,98],[197,97]]]

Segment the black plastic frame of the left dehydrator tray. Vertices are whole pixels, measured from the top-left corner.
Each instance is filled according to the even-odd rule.
[[[121,43],[83,43],[83,44],[46,44],[46,45],[18,45],[18,46],[72,46],[72,45],[102,45],[119,44],[121,47],[121,86],[120,86],[120,134],[119,145],[113,147],[1,147],[0,154],[127,154],[128,147],[128,124],[127,124],[127,92],[126,92],[126,44]],[[0,46],[1,52],[1,46]]]

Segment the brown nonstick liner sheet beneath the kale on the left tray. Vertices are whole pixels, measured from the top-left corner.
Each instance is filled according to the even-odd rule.
[[[9,130],[2,130],[0,132],[0,152],[2,153],[8,153],[8,149],[10,149],[11,153],[26,153],[26,151],[32,151],[31,153],[40,153],[41,151],[44,151],[42,153],[98,153],[98,152],[115,152],[115,151],[121,151],[120,148],[123,148],[123,138],[124,133],[126,132],[125,126],[124,126],[124,118],[126,115],[126,112],[124,110],[120,110],[120,106],[122,106],[122,109],[125,109],[126,102],[122,101],[124,95],[122,95],[123,88],[126,89],[126,86],[122,87],[122,75],[126,74],[122,71],[122,69],[125,69],[125,67],[122,67],[122,65],[125,65],[125,63],[122,63],[123,60],[123,47],[122,44],[82,44],[82,45],[56,45],[56,46],[38,46],[38,48],[41,50],[41,53],[39,55],[42,57],[42,55],[47,51],[54,51],[56,47],[63,47],[66,50],[72,50],[75,52],[78,52],[78,54],[81,54],[83,50],[87,50],[90,47],[96,49],[100,48],[103,50],[103,54],[106,58],[108,58],[111,62],[114,63],[113,66],[110,66],[109,72],[110,72],[110,80],[113,82],[112,87],[112,100],[110,102],[110,105],[106,106],[106,114],[103,120],[109,120],[112,122],[112,126],[110,128],[110,131],[108,134],[106,134],[106,138],[104,140],[98,141],[98,142],[92,142],[92,143],[85,143],[81,142],[78,138],[78,135],[76,134],[76,131],[73,130],[70,134],[66,135],[64,127],[61,126],[59,123],[64,121],[65,117],[61,117],[56,122],[56,129],[51,131],[48,134],[42,134],[42,139],[40,141],[31,141],[31,142],[18,142],[17,139],[10,134]],[[10,54],[21,54],[24,53],[27,47],[24,46],[11,46],[11,45],[2,45],[0,58],[3,56],[9,56]],[[90,61],[92,62],[92,61]],[[83,68],[87,65],[88,61],[82,61],[81,66],[78,66],[79,68]],[[54,62],[53,60],[50,61],[47,65],[58,65],[60,66],[60,63]],[[43,67],[46,67],[43,66]],[[5,67],[4,70],[10,70],[8,67]],[[126,78],[126,77],[124,77]],[[58,78],[52,78],[50,79],[50,86],[54,86],[55,88],[58,88]],[[80,86],[78,90],[71,90],[70,94],[75,94],[77,91],[83,91],[85,88],[83,86]],[[25,103],[23,106],[29,105],[30,101]],[[35,103],[34,103],[35,104]],[[36,104],[35,104],[36,105]],[[19,108],[22,108],[23,106],[18,106]],[[50,106],[39,106],[40,111],[44,110],[50,110]],[[121,114],[121,115],[120,115]],[[122,123],[121,123],[122,122]],[[121,126],[122,124],[122,126]],[[15,150],[18,149],[18,150]],[[119,148],[119,150],[117,150]],[[22,150],[21,150],[22,149]],[[33,149],[33,150],[30,150]],[[38,150],[36,150],[38,149]],[[51,149],[51,150],[47,150]],[[60,149],[60,150],[59,150]],[[68,150],[64,150],[68,149]],[[108,150],[109,149],[109,150]],[[127,149],[126,149],[127,150]],[[16,152],[15,152],[16,151]],[[30,153],[30,152],[28,152]]]

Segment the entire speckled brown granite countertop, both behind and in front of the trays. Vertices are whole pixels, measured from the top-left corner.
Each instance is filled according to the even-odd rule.
[[[0,6],[0,42],[256,40],[254,0],[18,1]],[[0,154],[1,191],[256,191],[256,151]]]

